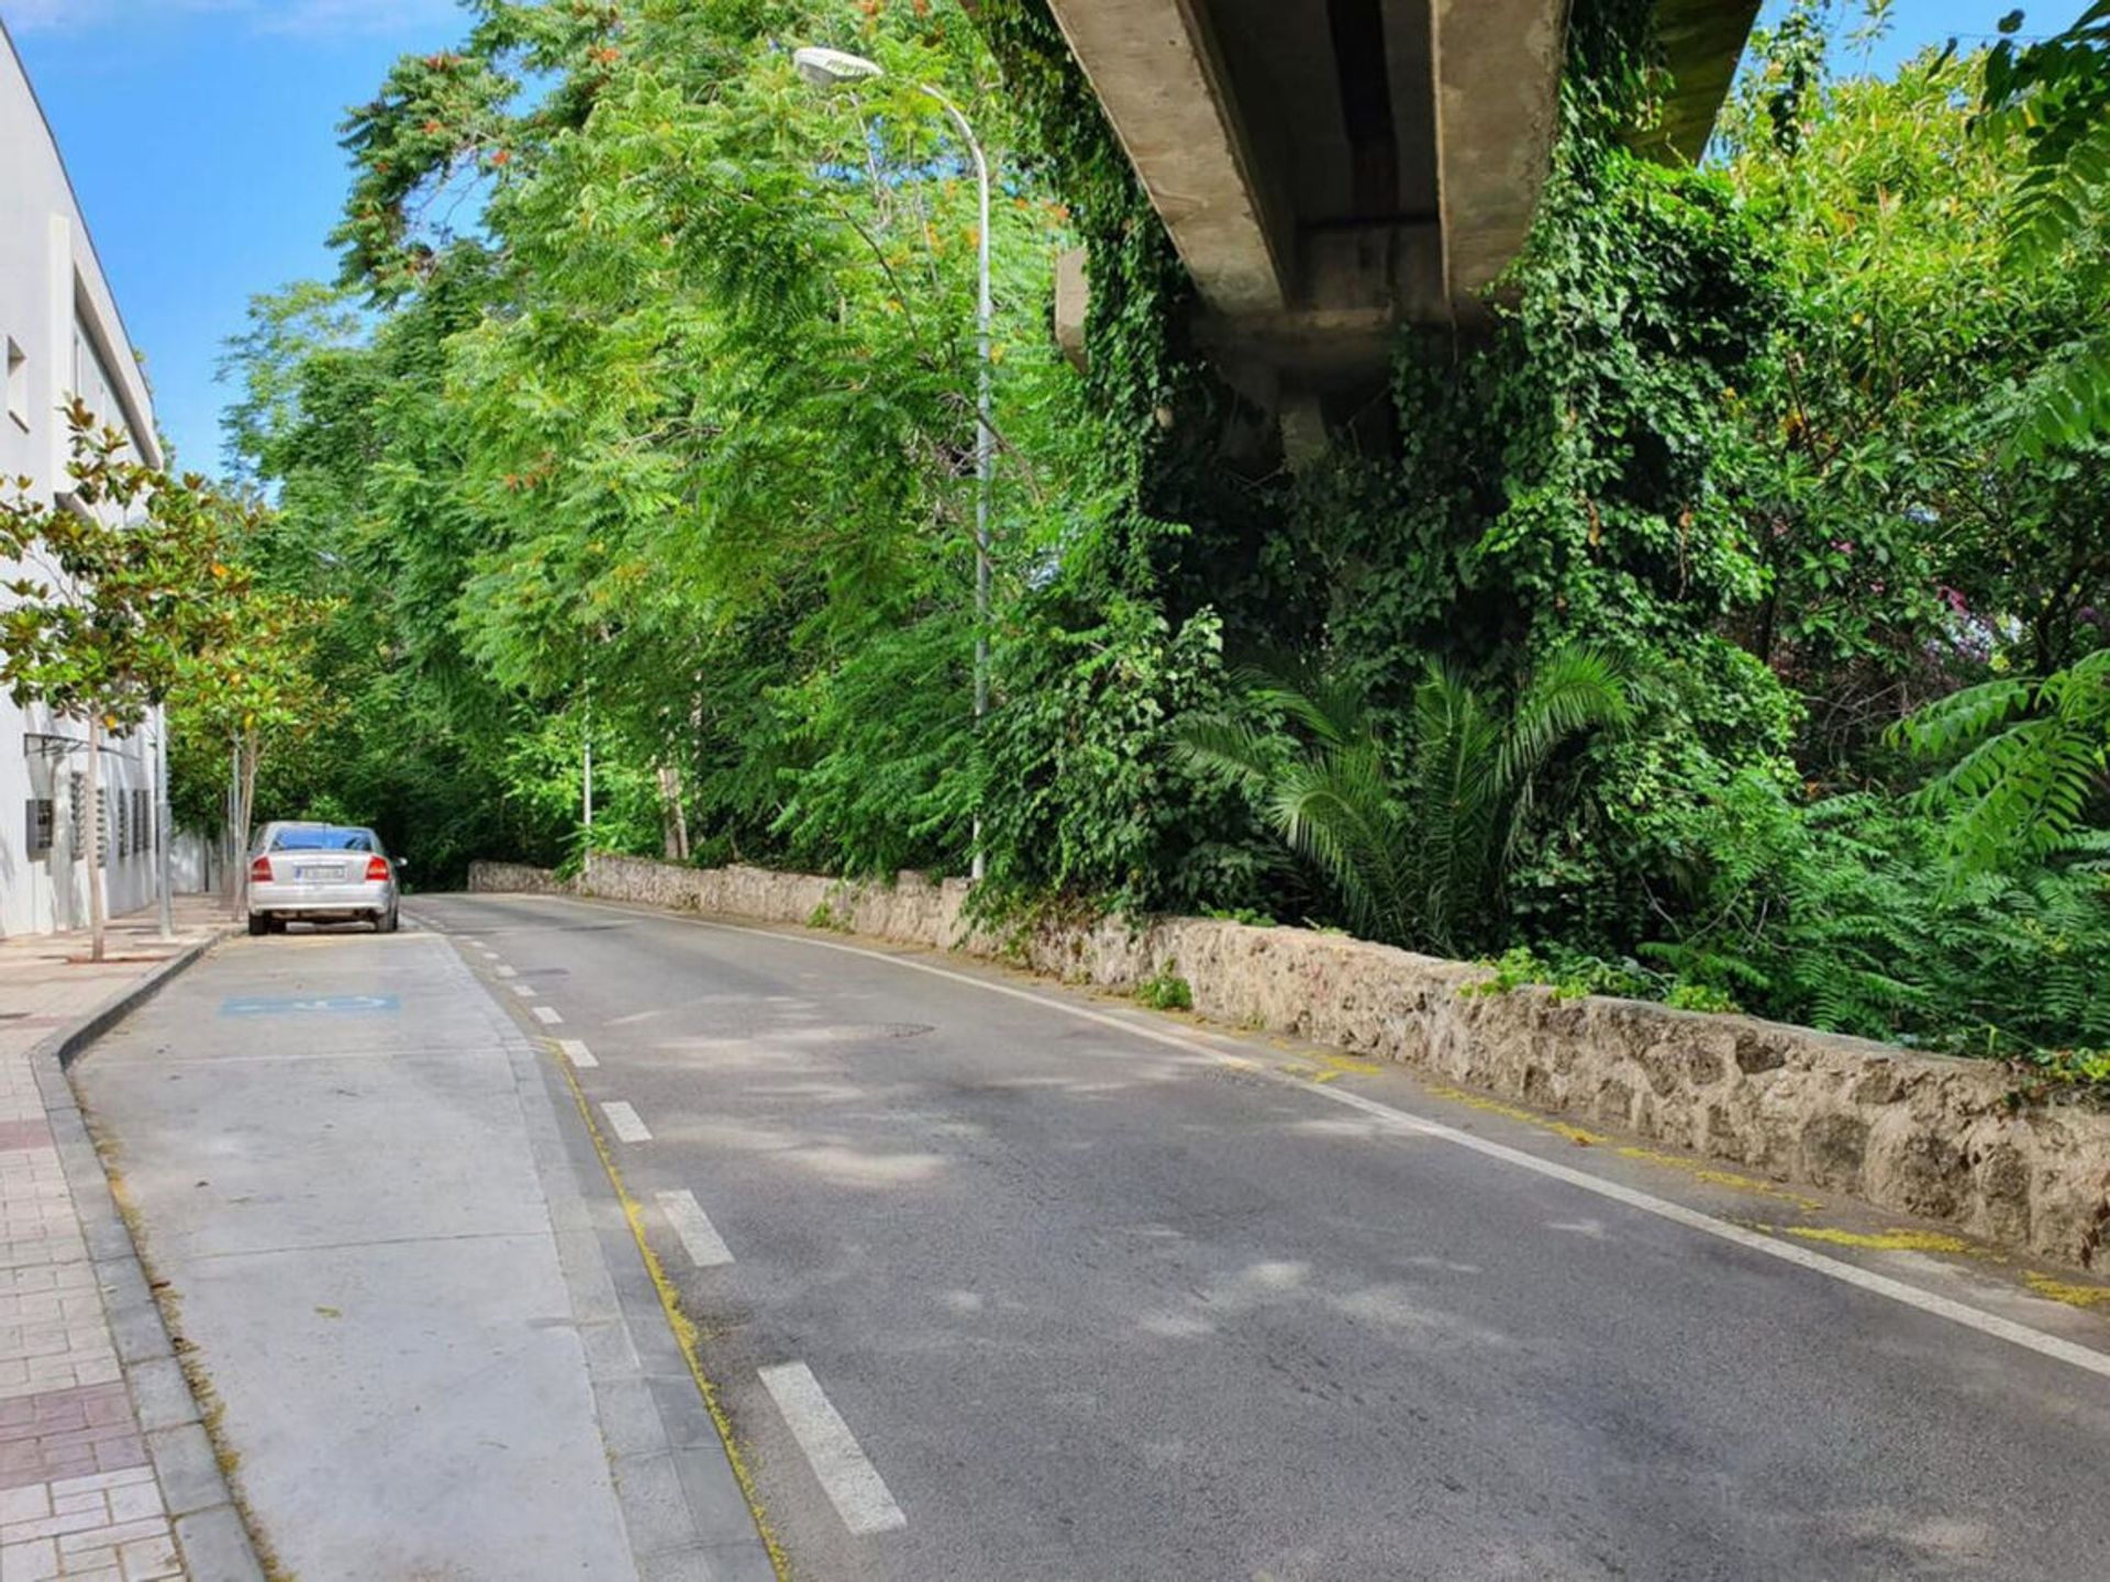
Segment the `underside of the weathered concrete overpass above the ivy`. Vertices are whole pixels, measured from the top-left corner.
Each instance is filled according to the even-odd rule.
[[[1367,392],[1399,323],[1483,312],[1545,184],[1568,0],[1049,2],[1251,397]],[[1756,11],[1658,0],[1665,158],[1699,158]]]

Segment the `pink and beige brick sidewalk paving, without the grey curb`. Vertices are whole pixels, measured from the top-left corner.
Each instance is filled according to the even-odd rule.
[[[0,1582],[186,1576],[30,1050],[217,924],[190,896],[173,943],[120,918],[101,964],[84,934],[0,941]]]

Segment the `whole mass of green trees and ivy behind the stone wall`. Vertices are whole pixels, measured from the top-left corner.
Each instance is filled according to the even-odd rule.
[[[1346,922],[1557,993],[2099,1046],[2110,445],[2042,426],[2110,323],[2099,11],[1876,82],[1796,6],[1694,171],[1644,154],[1656,6],[1578,0],[1523,253],[1291,470],[1047,0],[473,0],[346,122],[344,283],[230,352],[279,506],[241,559],[344,702],[260,802],[441,882],[576,861],[591,738],[599,846],[855,880],[979,827],[1015,939]],[[817,95],[793,42],[884,78]],[[998,171],[979,728],[975,188],[918,82]]]

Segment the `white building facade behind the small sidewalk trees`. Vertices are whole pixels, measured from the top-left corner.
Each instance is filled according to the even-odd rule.
[[[131,354],[110,283],[74,198],[15,40],[0,23],[0,487],[27,477],[46,498],[65,494],[70,432],[61,405],[80,397],[97,418],[160,464],[154,407]],[[0,582],[15,576],[0,561]],[[0,591],[0,599],[13,595]],[[154,757],[158,724],[106,742],[103,894],[110,915],[152,905]],[[87,728],[0,692],[0,934],[84,928]]]

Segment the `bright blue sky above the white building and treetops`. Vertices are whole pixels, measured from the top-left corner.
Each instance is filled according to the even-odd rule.
[[[848,4],[848,0],[844,0]],[[1783,0],[1768,0],[1777,13]],[[2009,0],[1897,0],[1886,70]],[[2032,32],[2085,0],[2030,4]],[[184,466],[219,464],[222,342],[257,291],[329,276],[335,124],[390,61],[462,32],[454,0],[0,0],[59,133]]]

